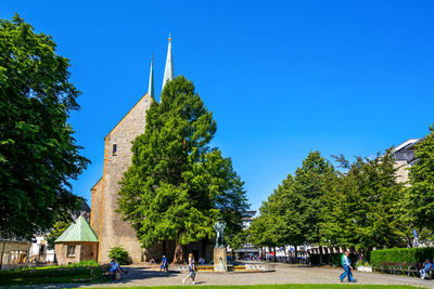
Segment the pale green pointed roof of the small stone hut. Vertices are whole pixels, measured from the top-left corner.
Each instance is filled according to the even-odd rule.
[[[65,232],[54,241],[94,241],[98,242],[98,236],[93,229],[89,226],[82,215],[75,220],[75,223],[71,224]]]

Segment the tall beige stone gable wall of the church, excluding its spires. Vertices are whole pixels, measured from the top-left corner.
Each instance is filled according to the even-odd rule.
[[[118,209],[119,181],[131,165],[131,142],[144,132],[146,110],[151,102],[152,98],[148,94],[144,95],[104,139],[103,178],[92,189],[90,222],[100,240],[98,253],[100,263],[110,261],[108,251],[116,246],[123,246],[132,262],[142,260],[143,250],[136,232],[115,210]],[[115,153],[114,145],[116,145]]]

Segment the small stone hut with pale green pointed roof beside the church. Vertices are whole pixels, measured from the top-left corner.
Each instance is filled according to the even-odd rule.
[[[60,265],[97,260],[98,236],[82,215],[78,216],[54,244]]]

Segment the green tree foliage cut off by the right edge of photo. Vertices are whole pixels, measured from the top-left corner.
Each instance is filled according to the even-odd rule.
[[[434,124],[431,133],[414,147],[418,162],[410,167],[410,187],[408,188],[407,213],[413,224],[432,234],[434,220]]]

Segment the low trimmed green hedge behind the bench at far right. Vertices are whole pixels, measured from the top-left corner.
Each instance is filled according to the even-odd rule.
[[[426,259],[433,260],[434,248],[394,248],[374,250],[371,252],[371,265],[380,267],[382,262],[422,263]]]

